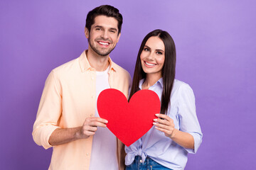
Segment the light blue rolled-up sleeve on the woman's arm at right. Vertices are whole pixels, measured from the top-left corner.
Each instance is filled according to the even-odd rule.
[[[203,134],[196,116],[196,104],[193,90],[188,84],[182,84],[179,89],[178,117],[180,130],[193,136],[194,149],[186,149],[195,154],[201,145]]]

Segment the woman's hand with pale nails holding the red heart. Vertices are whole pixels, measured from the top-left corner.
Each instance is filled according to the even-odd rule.
[[[164,135],[166,137],[174,137],[174,120],[172,120],[168,115],[164,114],[156,114],[158,117],[157,119],[154,119],[154,125],[157,130],[160,130],[161,132],[164,132]]]

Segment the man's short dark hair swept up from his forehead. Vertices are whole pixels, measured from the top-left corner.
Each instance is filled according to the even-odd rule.
[[[118,34],[121,33],[122,14],[119,13],[119,10],[117,8],[114,8],[114,6],[110,6],[110,5],[102,5],[92,9],[92,11],[90,11],[87,14],[86,23],[85,23],[85,27],[89,30],[89,32],[92,24],[95,23],[96,16],[107,16],[107,17],[115,18],[118,22],[117,24]]]

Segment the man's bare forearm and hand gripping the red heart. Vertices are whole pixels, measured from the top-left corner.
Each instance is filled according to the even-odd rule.
[[[62,145],[75,140],[86,139],[95,135],[97,127],[106,128],[107,120],[102,118],[86,118],[81,127],[58,128],[50,135],[49,143],[52,146]]]

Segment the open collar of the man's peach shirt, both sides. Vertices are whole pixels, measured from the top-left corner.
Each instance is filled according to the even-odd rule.
[[[82,54],[79,57],[80,69],[82,72],[95,71],[95,68],[91,67],[89,61],[87,60],[86,52],[87,52],[87,50],[82,52]],[[115,68],[110,57],[108,58],[108,61],[110,62],[110,71],[116,72],[117,69]]]

